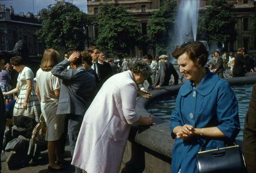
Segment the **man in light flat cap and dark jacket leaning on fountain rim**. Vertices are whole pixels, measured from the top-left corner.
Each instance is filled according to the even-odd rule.
[[[174,84],[175,85],[178,84],[179,75],[177,71],[174,69],[172,63],[170,63],[167,60],[167,58],[168,58],[167,55],[161,55],[159,57],[161,61],[161,66],[160,66],[158,75],[156,77],[156,81],[154,83],[154,86],[156,88],[160,86],[168,86],[171,75],[174,76]]]

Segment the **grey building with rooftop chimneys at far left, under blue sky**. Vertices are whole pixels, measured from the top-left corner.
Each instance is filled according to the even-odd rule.
[[[0,4],[0,51],[12,50],[15,43],[22,39],[27,44],[29,55],[42,54],[44,45],[38,42],[35,34],[41,27],[37,16],[32,13],[14,14],[12,6],[6,8],[4,4]]]

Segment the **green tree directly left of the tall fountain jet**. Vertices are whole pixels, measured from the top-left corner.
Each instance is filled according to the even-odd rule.
[[[158,52],[166,53],[172,46],[175,9],[172,0],[165,0],[160,10],[154,11],[148,20],[148,39]]]

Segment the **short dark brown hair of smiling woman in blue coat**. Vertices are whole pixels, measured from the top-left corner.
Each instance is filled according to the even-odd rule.
[[[195,63],[196,58],[199,59],[199,62],[202,66],[204,66],[207,62],[207,50],[204,44],[200,41],[187,42],[182,45],[176,47],[176,49],[172,52],[172,57],[178,59],[180,55],[186,53],[188,57]]]

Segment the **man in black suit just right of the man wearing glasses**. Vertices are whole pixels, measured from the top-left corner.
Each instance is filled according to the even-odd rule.
[[[110,64],[105,62],[104,59],[105,55],[103,52],[101,52],[98,56],[98,61],[96,61],[101,76],[100,87],[104,84],[104,82],[106,82],[106,80],[108,80],[108,78],[110,78],[113,75]]]

